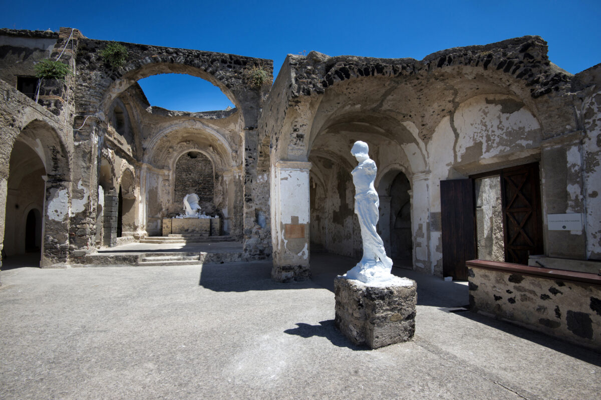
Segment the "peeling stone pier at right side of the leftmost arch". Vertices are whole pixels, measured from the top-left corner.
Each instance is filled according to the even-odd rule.
[[[53,181],[47,176],[42,178],[46,182],[46,198],[42,216],[40,267],[66,264],[69,257],[71,182]]]

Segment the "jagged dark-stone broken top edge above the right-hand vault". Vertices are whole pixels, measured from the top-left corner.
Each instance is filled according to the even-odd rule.
[[[288,55],[282,70],[291,79],[290,95],[323,94],[329,86],[361,77],[424,76],[447,67],[472,67],[513,76],[530,88],[533,98],[569,90],[573,74],[549,61],[547,42],[538,36],[511,38],[485,45],[453,47],[432,53],[423,60]],[[282,75],[282,73],[280,74]],[[283,77],[283,75],[282,75]]]

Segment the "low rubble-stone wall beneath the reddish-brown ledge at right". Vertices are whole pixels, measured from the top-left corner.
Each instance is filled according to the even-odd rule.
[[[471,311],[601,348],[600,284],[469,266],[469,299]]]

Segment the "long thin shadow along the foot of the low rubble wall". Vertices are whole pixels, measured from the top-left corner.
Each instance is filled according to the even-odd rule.
[[[510,335],[517,336],[518,338],[551,348],[552,350],[564,353],[567,356],[574,357],[575,359],[579,359],[596,366],[601,366],[601,354],[592,349],[582,347],[581,345],[572,344],[570,342],[563,341],[562,339],[545,335],[545,333],[542,332],[537,332],[535,330],[514,325],[510,321],[496,320],[495,318],[488,317],[487,315],[477,314],[475,312],[458,312],[456,314],[461,315],[468,320],[476,321],[486,326],[501,330],[502,332],[509,333]],[[540,368],[544,368],[544,366],[540,366]]]

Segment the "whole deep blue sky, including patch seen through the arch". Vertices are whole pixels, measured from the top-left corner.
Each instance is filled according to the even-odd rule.
[[[94,39],[182,47],[273,59],[288,53],[422,59],[438,50],[523,35],[549,43],[549,59],[570,73],[601,62],[601,1],[165,1],[0,0],[0,27],[78,28]],[[139,82],[153,106],[224,109],[229,101],[202,79]]]

